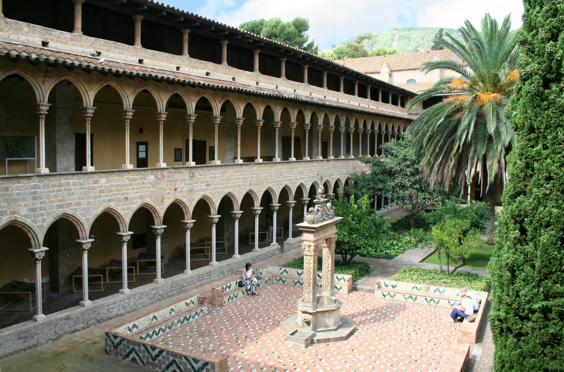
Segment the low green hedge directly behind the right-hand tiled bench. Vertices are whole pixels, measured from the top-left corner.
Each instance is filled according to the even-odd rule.
[[[399,269],[391,280],[441,287],[462,288],[474,291],[489,291],[490,277],[475,273],[439,273],[437,269],[405,266]]]

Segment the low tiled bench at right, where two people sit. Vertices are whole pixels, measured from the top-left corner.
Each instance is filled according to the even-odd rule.
[[[439,287],[407,282],[398,282],[387,279],[376,280],[374,296],[376,298],[403,301],[409,303],[420,303],[424,305],[441,306],[453,308],[459,305],[460,289]],[[482,325],[484,317],[483,309],[486,308],[488,293],[473,291],[482,299],[476,319],[474,322],[463,321],[458,330],[457,342],[475,344],[478,338],[478,330]]]

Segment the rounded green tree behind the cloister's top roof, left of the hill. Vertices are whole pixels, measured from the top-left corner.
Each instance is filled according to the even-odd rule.
[[[319,46],[315,45],[315,40],[308,42],[307,31],[310,29],[310,20],[306,18],[296,17],[287,22],[278,17],[269,20],[261,18],[241,23],[239,28],[313,54],[318,54],[319,51]]]

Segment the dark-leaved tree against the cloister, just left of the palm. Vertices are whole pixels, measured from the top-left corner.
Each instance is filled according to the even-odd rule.
[[[353,175],[350,191],[372,198],[389,198],[391,206],[407,210],[413,228],[419,212],[442,200],[443,193],[431,187],[421,174],[423,156],[413,152],[411,138],[406,136],[403,140],[385,143],[382,150],[385,158],[360,158],[370,166],[370,172]]]

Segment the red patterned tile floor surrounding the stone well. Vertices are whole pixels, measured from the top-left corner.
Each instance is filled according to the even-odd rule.
[[[261,296],[245,297],[174,330],[154,342],[201,355],[230,354],[231,371],[448,371],[461,356],[450,352],[456,327],[446,310],[338,295],[341,315],[358,330],[348,340],[289,347],[280,322],[296,313],[302,289],[273,284]]]

